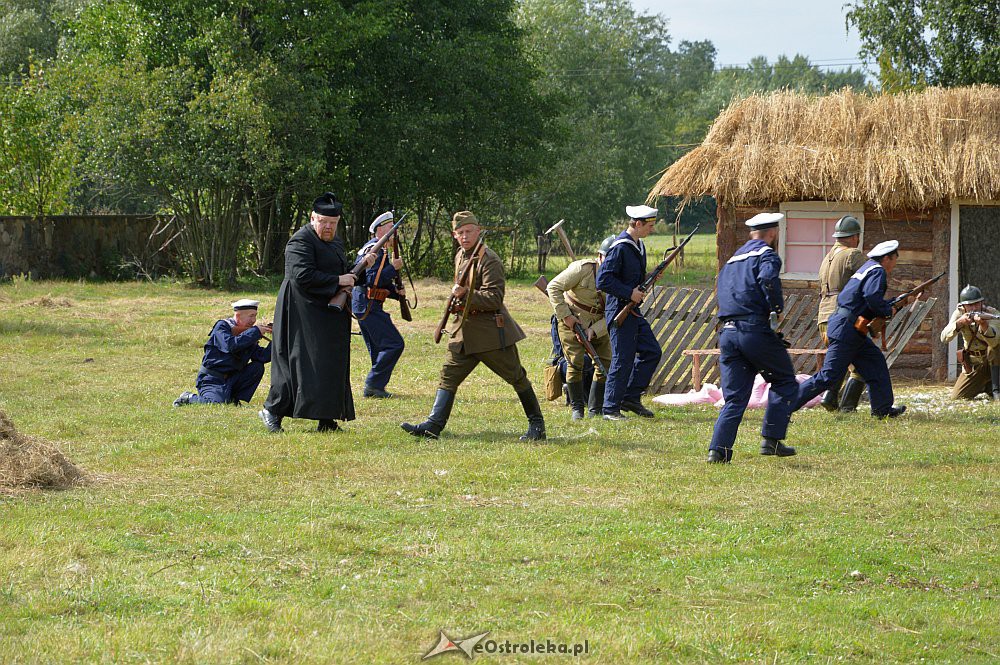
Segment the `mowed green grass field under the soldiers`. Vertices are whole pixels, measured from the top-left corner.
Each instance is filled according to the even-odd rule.
[[[716,467],[713,408],[573,423],[546,403],[549,440],[523,443],[479,368],[416,440],[398,423],[426,416],[444,353],[446,286],[423,282],[394,399],[360,398],[353,339],[345,431],[266,434],[266,376],[253,408],[171,408],[228,303],[267,318],[275,292],[0,286],[0,408],[93,477],[0,498],[0,661],[415,663],[440,630],[586,640],[599,663],[1000,657],[997,406],[801,413],[785,460],[756,454],[753,412]],[[508,305],[541,393],[549,312],[527,284]]]

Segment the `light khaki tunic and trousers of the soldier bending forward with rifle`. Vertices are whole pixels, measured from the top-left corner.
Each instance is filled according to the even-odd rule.
[[[604,319],[604,294],[597,290],[596,276],[597,260],[582,259],[570,263],[549,282],[549,303],[559,319],[559,341],[562,342],[563,354],[566,356],[566,383],[583,381],[583,364],[587,354],[573,331],[562,322],[568,316],[575,316],[585,329],[594,331],[591,344],[597,351],[597,357],[605,367],[611,365],[611,336]],[[571,299],[600,311],[594,313],[581,309]],[[599,367],[595,366],[594,372],[595,381],[605,380]]]

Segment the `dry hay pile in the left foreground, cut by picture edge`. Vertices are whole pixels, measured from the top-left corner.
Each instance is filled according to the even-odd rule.
[[[83,481],[83,473],[55,446],[17,431],[0,411],[0,488],[63,489]]]

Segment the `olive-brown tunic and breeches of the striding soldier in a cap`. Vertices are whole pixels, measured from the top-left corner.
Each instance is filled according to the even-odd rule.
[[[507,288],[503,263],[496,252],[485,245],[483,248],[481,259],[473,258],[471,251],[464,250],[459,250],[455,256],[456,282],[470,260],[476,260],[478,264],[471,273],[469,312],[465,323],[448,343],[448,353],[441,368],[438,387],[458,392],[458,387],[465,378],[479,363],[483,363],[521,393],[531,390],[531,381],[521,365],[515,346],[525,338],[524,331],[503,304]],[[454,328],[455,325],[457,324],[453,320],[449,328]]]

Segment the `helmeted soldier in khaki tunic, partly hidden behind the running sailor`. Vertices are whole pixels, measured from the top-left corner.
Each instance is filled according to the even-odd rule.
[[[837,296],[840,290],[847,285],[851,275],[858,271],[858,268],[867,260],[864,252],[858,249],[861,244],[861,223],[845,215],[837,221],[833,227],[833,237],[837,239],[827,255],[823,258],[823,263],[819,266],[819,333],[823,338],[823,343],[829,345],[826,337],[826,323],[830,316],[837,311]],[[844,390],[844,399],[840,399],[840,387],[843,379],[830,386],[823,398],[822,406],[827,411],[854,411],[858,408],[858,400],[864,392],[865,382],[857,372],[851,372],[851,378],[847,382]]]

